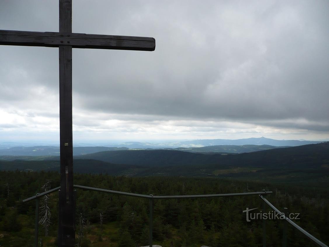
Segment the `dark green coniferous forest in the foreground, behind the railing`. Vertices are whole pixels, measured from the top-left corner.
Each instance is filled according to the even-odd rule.
[[[57,172],[0,172],[0,245],[32,246],[35,201],[22,200],[59,186]],[[143,177],[75,174],[74,183],[153,195],[192,195],[273,191],[266,198],[279,210],[300,213],[294,220],[329,242],[327,188],[268,184],[224,178]],[[80,246],[145,246],[149,236],[149,200],[77,189],[76,243]],[[45,205],[46,203],[46,205]],[[262,246],[262,220],[246,221],[242,211],[262,208],[256,196],[163,199],[153,202],[153,244],[168,247]],[[45,212],[44,208],[49,208]],[[266,207],[266,211],[272,211]],[[43,220],[42,220],[43,219]],[[40,198],[38,246],[57,246],[58,192]],[[267,246],[282,245],[282,220],[266,220]],[[316,246],[288,225],[288,246]]]

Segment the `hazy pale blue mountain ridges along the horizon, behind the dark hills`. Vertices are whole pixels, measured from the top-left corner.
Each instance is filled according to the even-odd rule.
[[[307,144],[316,144],[320,141],[298,141],[298,140],[274,140],[265,137],[247,138],[238,140],[227,139],[203,139],[182,142],[150,143],[150,142],[123,142],[115,145],[98,147],[73,147],[73,155],[89,154],[100,151],[128,150],[128,149],[171,149],[188,152],[227,152],[242,153],[253,152],[278,147],[295,147]],[[23,155],[23,156],[58,156],[58,146],[21,146],[7,147],[0,144],[1,155]],[[12,144],[11,144],[12,145]],[[221,146],[221,147],[219,147]],[[226,147],[224,147],[226,146]],[[243,147],[241,147],[243,146]]]

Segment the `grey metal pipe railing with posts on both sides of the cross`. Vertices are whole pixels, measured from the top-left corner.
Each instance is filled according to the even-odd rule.
[[[208,194],[208,195],[181,195],[181,196],[154,196],[154,195],[142,195],[142,194],[136,194],[136,193],[128,193],[128,192],[122,192],[122,191],[115,191],[115,190],[108,190],[108,189],[100,189],[100,188],[94,188],[94,187],[88,187],[88,186],[82,186],[82,185],[73,185],[74,188],[84,189],[84,190],[93,190],[93,191],[99,191],[99,192],[105,192],[110,194],[118,194],[118,195],[124,195],[124,196],[134,196],[134,197],[141,197],[141,198],[148,198],[149,199],[149,246],[152,246],[153,241],[153,200],[154,199],[179,199],[179,198],[205,198],[205,197],[226,197],[226,196],[253,196],[258,195],[263,200],[263,210],[265,212],[266,204],[270,206],[274,211],[282,214],[287,214],[287,208],[284,208],[285,213],[280,212],[276,207],[274,207],[269,201],[265,199],[265,195],[272,194],[272,191],[266,191],[263,190],[262,192],[246,192],[246,193],[229,193],[229,194]],[[43,193],[38,193],[35,196],[29,197],[23,202],[28,202],[31,200],[36,200],[36,221],[35,221],[35,239],[34,239],[34,246],[38,246],[38,218],[39,218],[39,198],[50,194],[55,191],[60,191],[61,187],[56,187],[54,189],[45,191]],[[315,243],[317,243],[319,246],[322,247],[328,247],[324,243],[322,243],[320,240],[318,240],[316,237],[302,229],[300,226],[298,226],[296,223],[291,221],[287,216],[285,216],[286,224],[283,226],[283,237],[282,237],[282,246],[287,246],[287,222],[289,222],[293,227],[304,233],[307,237],[309,237],[311,240],[313,240]],[[266,221],[263,218],[263,247],[266,247]]]

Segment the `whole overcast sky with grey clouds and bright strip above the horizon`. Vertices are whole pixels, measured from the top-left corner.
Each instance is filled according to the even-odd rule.
[[[73,138],[329,138],[329,1],[73,0]],[[58,32],[58,1],[1,0],[0,29]],[[58,48],[0,46],[0,141],[59,141]]]

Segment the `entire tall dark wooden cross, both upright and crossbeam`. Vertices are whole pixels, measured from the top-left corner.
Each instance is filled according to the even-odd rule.
[[[0,44],[59,47],[61,192],[58,245],[73,247],[72,48],[154,51],[155,39],[72,33],[72,0],[59,0],[59,13],[58,33],[0,30]]]

